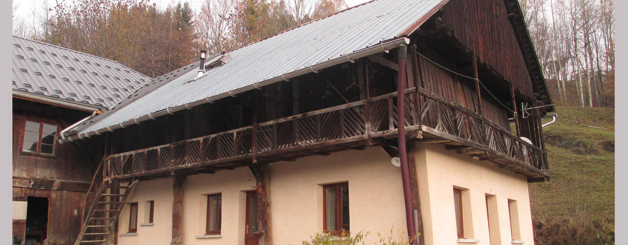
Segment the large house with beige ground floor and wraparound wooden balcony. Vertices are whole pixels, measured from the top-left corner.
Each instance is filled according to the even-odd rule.
[[[75,244],[533,244],[551,105],[516,0],[370,1],[68,128],[107,145]]]

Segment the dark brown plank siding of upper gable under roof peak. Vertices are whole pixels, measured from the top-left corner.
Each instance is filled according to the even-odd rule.
[[[502,0],[452,0],[443,8],[443,24],[453,36],[514,84],[522,95],[534,98],[532,82]]]

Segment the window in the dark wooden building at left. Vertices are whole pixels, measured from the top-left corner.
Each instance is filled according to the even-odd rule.
[[[57,125],[26,121],[22,152],[54,155]]]

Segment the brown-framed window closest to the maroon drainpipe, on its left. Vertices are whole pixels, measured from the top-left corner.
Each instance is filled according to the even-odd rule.
[[[349,183],[323,185],[323,230],[349,232]]]

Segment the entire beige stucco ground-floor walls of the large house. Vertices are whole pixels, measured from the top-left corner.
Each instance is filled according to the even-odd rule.
[[[494,164],[445,150],[443,145],[417,143],[416,169],[426,244],[456,244],[453,187],[463,190],[465,234],[489,243],[485,195],[494,204],[492,244],[511,244],[508,200],[517,201],[521,240],[533,244],[528,183],[523,175]],[[274,244],[301,244],[323,229],[323,184],[349,182],[350,229],[395,238],[407,236],[401,169],[394,167],[381,147],[345,150],[328,156],[303,157],[270,165],[271,225]],[[254,190],[248,167],[188,176],[183,184],[184,244],[244,244],[246,191]],[[222,193],[222,234],[207,237],[207,194]],[[494,195],[494,196],[493,196]],[[129,202],[138,202],[138,221],[145,219],[145,201],[155,201],[154,226],[138,226],[138,236],[120,236],[119,244],[169,244],[171,240],[172,179],[139,182]],[[128,206],[119,231],[128,229]],[[495,234],[494,231],[499,231]],[[495,237],[500,241],[495,241]]]

